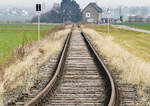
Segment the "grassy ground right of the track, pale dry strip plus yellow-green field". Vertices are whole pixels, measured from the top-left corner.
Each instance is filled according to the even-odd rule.
[[[150,87],[150,34],[106,26],[83,28],[97,52],[104,56],[111,71],[119,74],[119,83],[137,85],[140,106],[150,105],[146,88]]]

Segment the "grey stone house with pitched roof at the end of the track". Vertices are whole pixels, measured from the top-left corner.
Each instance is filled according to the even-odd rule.
[[[82,19],[85,23],[98,24],[102,19],[102,9],[96,3],[89,3],[82,11]]]

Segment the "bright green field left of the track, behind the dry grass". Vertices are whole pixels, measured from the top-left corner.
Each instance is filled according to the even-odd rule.
[[[55,27],[54,25],[41,25],[41,37],[44,37],[49,29]],[[26,42],[36,41],[38,39],[37,25],[0,24],[0,64],[11,57],[13,49],[22,45],[24,38],[26,38]]]

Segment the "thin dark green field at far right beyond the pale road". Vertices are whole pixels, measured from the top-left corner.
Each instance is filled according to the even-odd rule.
[[[121,24],[118,24],[118,25],[127,25],[127,26],[131,26],[131,27],[134,27],[134,28],[150,30],[150,23],[135,22],[135,23],[121,23]]]

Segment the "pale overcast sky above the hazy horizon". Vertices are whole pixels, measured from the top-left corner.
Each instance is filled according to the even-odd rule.
[[[32,7],[35,3],[44,1],[46,6],[52,6],[54,2],[61,0],[1,0],[0,7]],[[116,7],[116,6],[149,6],[150,0],[76,0],[81,8],[85,7],[89,2],[97,2],[100,7]]]

